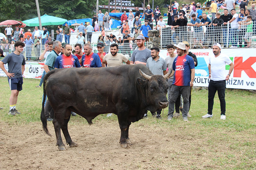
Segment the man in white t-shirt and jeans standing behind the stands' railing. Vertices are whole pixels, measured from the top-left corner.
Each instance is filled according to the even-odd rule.
[[[232,46],[230,48],[237,48],[237,36],[238,36],[238,14],[235,9],[231,10],[232,19],[229,21],[230,23],[230,41]]]

